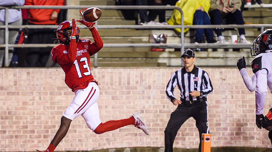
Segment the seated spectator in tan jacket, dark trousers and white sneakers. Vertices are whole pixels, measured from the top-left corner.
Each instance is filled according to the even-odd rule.
[[[241,0],[211,0],[209,15],[213,25],[221,25],[222,18],[226,18],[227,24],[236,22],[237,25],[244,25],[244,19],[240,10]],[[216,34],[220,43],[228,43],[222,36],[222,30],[217,28]],[[240,40],[239,43],[250,43],[246,40],[245,29],[238,28]]]

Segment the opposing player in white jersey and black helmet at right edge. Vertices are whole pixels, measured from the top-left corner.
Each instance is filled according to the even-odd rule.
[[[246,73],[245,58],[240,58],[237,67],[243,77],[245,85],[250,91],[255,90],[256,97],[256,125],[258,128],[269,130],[268,137],[272,144],[272,108],[264,116],[264,102],[267,86],[272,93],[272,29],[261,33],[254,41],[251,56],[256,56],[251,63],[254,75],[250,79]]]

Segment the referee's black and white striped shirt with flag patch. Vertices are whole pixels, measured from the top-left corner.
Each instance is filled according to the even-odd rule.
[[[171,76],[166,86],[166,95],[171,102],[176,99],[173,94],[176,85],[178,85],[178,89],[180,90],[180,98],[187,101],[196,101],[200,98],[206,101],[207,95],[213,90],[208,73],[195,65],[191,72],[187,72],[183,67]],[[203,95],[192,97],[189,93],[193,90],[197,90],[201,94],[203,93]]]

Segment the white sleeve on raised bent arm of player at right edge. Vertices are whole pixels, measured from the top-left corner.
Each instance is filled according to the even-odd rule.
[[[248,88],[250,92],[255,91],[256,90],[256,75],[253,74],[252,77],[250,78],[245,68],[241,69],[240,73],[244,80],[246,88]]]

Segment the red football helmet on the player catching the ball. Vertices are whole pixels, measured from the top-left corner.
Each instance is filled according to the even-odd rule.
[[[57,30],[55,30],[57,34],[58,42],[61,44],[68,45],[70,43],[70,36],[72,34],[72,22],[64,21],[58,25]],[[76,26],[76,34],[79,33],[79,27]],[[79,35],[76,35],[76,42],[79,41]]]

